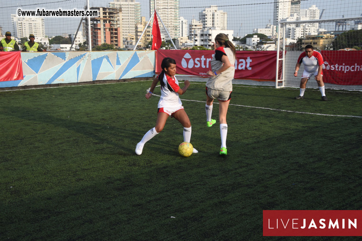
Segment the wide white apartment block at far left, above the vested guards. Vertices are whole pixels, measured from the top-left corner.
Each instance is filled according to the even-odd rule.
[[[45,38],[44,18],[38,17],[18,17],[11,14],[13,24],[12,35],[17,38],[28,38],[29,34],[34,34],[35,38]]]

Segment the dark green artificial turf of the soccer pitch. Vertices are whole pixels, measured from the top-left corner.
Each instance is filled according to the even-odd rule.
[[[169,118],[138,156],[157,117],[150,85],[0,92],[1,240],[359,240],[263,237],[262,211],[361,210],[361,92],[234,85],[219,156],[217,101],[208,128],[205,83],[191,83],[199,153],[178,154]]]

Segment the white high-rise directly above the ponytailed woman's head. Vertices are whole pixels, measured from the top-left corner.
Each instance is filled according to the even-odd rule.
[[[202,27],[216,27],[220,30],[227,29],[227,12],[218,10],[217,6],[210,6],[199,12],[199,19],[202,22]]]

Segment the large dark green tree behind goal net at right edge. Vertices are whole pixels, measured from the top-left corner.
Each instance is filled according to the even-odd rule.
[[[336,50],[341,48],[362,47],[362,29],[349,30],[337,36],[333,46]]]

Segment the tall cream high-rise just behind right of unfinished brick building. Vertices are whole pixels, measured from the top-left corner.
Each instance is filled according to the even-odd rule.
[[[114,0],[108,4],[110,8],[122,9],[122,35],[136,35],[135,24],[141,22],[141,4],[135,0]]]

